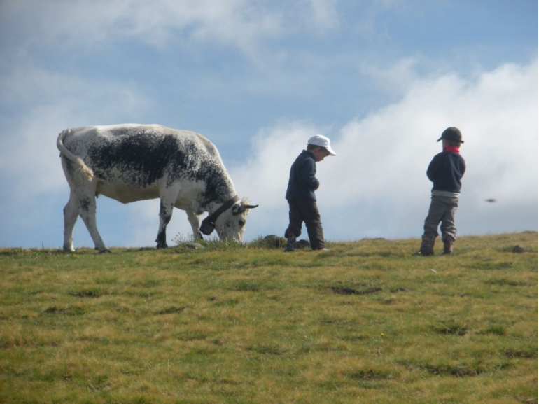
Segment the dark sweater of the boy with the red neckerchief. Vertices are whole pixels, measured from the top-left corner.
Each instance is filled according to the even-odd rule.
[[[433,181],[433,190],[460,193],[465,171],[466,164],[459,153],[442,151],[428,165],[427,176]]]

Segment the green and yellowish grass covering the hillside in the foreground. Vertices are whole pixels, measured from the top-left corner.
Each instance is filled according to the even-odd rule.
[[[0,403],[538,403],[536,232],[205,244],[0,249]]]

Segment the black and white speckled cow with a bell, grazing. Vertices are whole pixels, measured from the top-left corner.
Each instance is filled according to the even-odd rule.
[[[66,129],[57,138],[69,183],[64,207],[64,251],[73,252],[73,228],[83,218],[95,249],[110,252],[96,224],[96,197],[122,203],[160,198],[157,248],[167,248],[174,207],[186,211],[195,237],[215,229],[242,242],[250,205],[237,197],[216,146],[195,132],[161,125],[110,125]],[[200,225],[200,215],[208,212]],[[199,227],[200,226],[200,227]]]

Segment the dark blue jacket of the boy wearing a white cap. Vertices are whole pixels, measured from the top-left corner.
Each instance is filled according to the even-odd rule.
[[[314,191],[320,183],[316,179],[316,161],[310,151],[302,151],[290,167],[290,179],[286,190],[287,200],[315,200]]]

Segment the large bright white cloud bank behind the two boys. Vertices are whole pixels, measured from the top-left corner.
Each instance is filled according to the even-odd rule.
[[[330,239],[419,235],[430,182],[426,167],[449,126],[463,132],[463,179],[458,227],[464,232],[536,230],[538,211],[538,61],[506,64],[475,80],[454,75],[417,80],[404,98],[339,133],[329,133],[338,155],[318,164],[319,208]],[[252,158],[234,167],[237,188],[249,189],[248,237],[281,234],[288,170],[319,128],[279,123],[262,130]],[[496,198],[505,213],[487,206]],[[487,214],[489,210],[491,214]],[[480,220],[479,220],[480,219]]]

